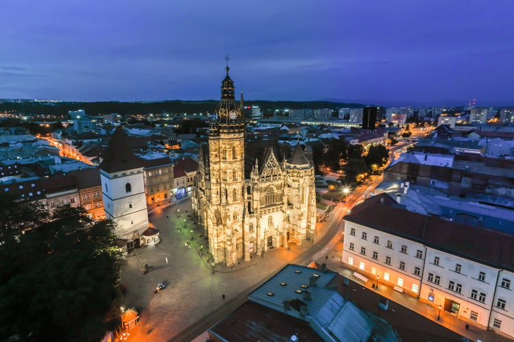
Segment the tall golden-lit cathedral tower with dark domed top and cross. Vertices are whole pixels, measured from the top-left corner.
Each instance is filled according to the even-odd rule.
[[[210,208],[209,248],[216,263],[232,265],[243,257],[243,181],[245,124],[234,98],[234,82],[221,83],[217,120],[209,130]]]

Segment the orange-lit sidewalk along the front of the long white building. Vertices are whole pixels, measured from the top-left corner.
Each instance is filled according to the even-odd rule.
[[[344,276],[351,280],[351,282],[354,282],[356,287],[360,286],[363,290],[365,290],[354,291],[352,295],[354,296],[355,300],[363,306],[363,308],[366,308],[372,313],[376,313],[378,310],[376,308],[376,302],[371,301],[373,302],[373,304],[371,304],[366,297],[368,297],[370,293],[376,293],[377,295],[380,295],[384,298],[389,298],[390,302],[407,308],[409,311],[411,311],[411,315],[414,316],[416,314],[419,314],[422,317],[424,317],[424,319],[428,319],[429,321],[433,321],[436,324],[439,324],[440,326],[448,328],[449,330],[456,332],[456,334],[460,335],[461,337],[465,337],[470,341],[512,341],[512,339],[506,337],[506,335],[502,334],[501,332],[492,329],[487,330],[482,326],[474,324],[473,321],[461,319],[460,317],[456,317],[452,313],[445,312],[444,310],[441,310],[439,315],[439,308],[437,306],[432,306],[426,302],[421,302],[420,300],[417,300],[417,298],[411,295],[395,291],[395,289],[393,289],[393,287],[390,287],[389,285],[385,285],[379,282],[378,289],[376,289],[374,287],[376,284],[375,280],[369,279],[366,282],[364,282],[363,280],[360,280],[359,278],[354,276],[355,269],[350,269],[349,267],[345,267],[343,265],[343,263],[341,262],[342,248],[343,242],[341,241],[341,239],[339,239],[339,241],[336,241],[335,244],[332,244],[331,241],[330,246],[328,246],[329,251],[324,253],[323,255],[317,255],[316,257],[318,257],[318,259],[315,259],[315,261],[319,264],[326,263],[328,269],[334,272],[339,272],[341,276]],[[391,305],[389,306],[389,308],[391,309]],[[437,319],[438,315],[439,320]],[[382,313],[382,317],[384,317],[384,313]],[[393,324],[393,326],[395,326],[393,321],[391,321],[390,323]],[[409,321],[409,323],[411,323],[411,321]],[[466,328],[466,326],[469,326],[469,328]],[[414,326],[413,329],[415,329]]]

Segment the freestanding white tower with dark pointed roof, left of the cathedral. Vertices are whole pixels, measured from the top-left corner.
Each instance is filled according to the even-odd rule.
[[[127,250],[157,242],[158,231],[148,227],[143,163],[132,154],[121,127],[99,168],[106,218],[116,223],[114,233],[127,240]]]

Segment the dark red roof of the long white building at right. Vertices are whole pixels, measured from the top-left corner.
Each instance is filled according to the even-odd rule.
[[[514,270],[514,235],[412,213],[387,194],[365,200],[344,219],[451,254]]]

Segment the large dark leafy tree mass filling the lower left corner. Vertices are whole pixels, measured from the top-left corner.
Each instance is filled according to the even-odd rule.
[[[29,222],[24,233],[2,237],[0,339],[101,340],[117,325],[113,308],[121,298],[112,221],[93,222],[84,209],[67,206]],[[25,226],[16,223],[8,221]]]

